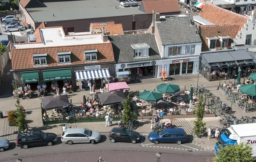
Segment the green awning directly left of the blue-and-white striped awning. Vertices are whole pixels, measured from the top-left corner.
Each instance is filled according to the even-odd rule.
[[[43,71],[44,81],[70,80],[72,79],[71,69]]]

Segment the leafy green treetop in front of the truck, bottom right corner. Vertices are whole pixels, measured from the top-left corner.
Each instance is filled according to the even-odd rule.
[[[227,145],[219,149],[217,157],[213,162],[252,162],[252,147],[244,143]]]

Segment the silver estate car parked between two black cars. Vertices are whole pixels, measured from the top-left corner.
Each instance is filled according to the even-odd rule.
[[[85,128],[69,128],[66,129],[61,136],[61,142],[65,142],[69,145],[73,143],[91,143],[95,144],[100,141],[100,133],[97,131],[91,131]]]

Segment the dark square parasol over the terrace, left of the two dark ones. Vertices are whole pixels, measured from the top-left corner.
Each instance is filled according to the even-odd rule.
[[[45,111],[56,108],[63,108],[63,106],[70,105],[67,95],[44,97],[42,98],[43,109]]]

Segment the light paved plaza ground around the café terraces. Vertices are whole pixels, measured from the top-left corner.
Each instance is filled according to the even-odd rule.
[[[230,101],[226,100],[224,95],[220,90],[217,90],[217,87],[219,85],[219,81],[213,81],[208,82],[205,80],[201,75],[199,75],[198,80],[198,74],[189,74],[189,75],[181,75],[181,76],[174,76],[174,80],[167,81],[170,83],[174,83],[177,85],[180,85],[180,89],[184,90],[186,86],[186,90],[189,89],[190,85],[196,87],[197,81],[198,85],[205,85],[207,89],[209,89],[215,96],[219,96],[222,101],[227,102],[230,105]],[[234,80],[232,80],[233,82]],[[229,82],[228,80],[226,82]],[[157,85],[165,83],[165,81],[162,81],[157,78],[152,79],[145,79],[141,80],[140,83],[134,83],[129,84],[130,91],[144,91],[144,90],[152,90],[156,88]],[[106,91],[106,90],[105,90]],[[99,90],[96,90],[96,92],[99,92]],[[75,92],[74,94],[69,94],[70,99],[72,99],[72,102],[74,105],[80,105],[80,103],[83,101],[82,96],[85,94],[86,97],[89,96],[89,91],[81,91],[81,92]],[[89,96],[90,97],[90,96]],[[6,97],[0,99],[0,111],[3,111],[3,119],[0,119],[0,137],[1,138],[7,138],[9,140],[15,140],[17,137],[17,128],[12,127],[8,125],[7,121],[7,113],[10,110],[15,110],[15,102],[16,99],[13,97]],[[35,99],[21,99],[20,104],[23,105],[23,107],[26,109],[27,112],[27,119],[28,119],[28,125],[33,130],[41,130],[45,132],[52,132],[57,135],[61,135],[62,133],[62,125],[56,124],[56,125],[43,125],[42,119],[41,119],[41,107],[40,107],[41,98],[35,98]],[[240,114],[243,116],[250,116],[250,117],[256,117],[256,113],[246,113],[241,111],[239,108],[237,108],[235,105],[233,105],[233,111],[235,112],[235,115],[240,118]],[[217,113],[218,115],[218,113]],[[220,119],[220,117],[211,117],[211,118],[205,118],[204,121],[207,122],[208,126],[215,126],[218,127],[217,120]],[[164,121],[167,121],[169,119],[165,119]],[[184,128],[185,131],[190,134],[190,131],[193,128],[192,118],[184,118],[184,119],[172,119],[173,124],[178,128]],[[116,124],[116,122],[113,122],[113,124]],[[141,121],[141,125],[139,128],[137,128],[136,131],[140,133],[149,133],[150,130],[150,124],[149,121]],[[105,122],[87,122],[87,123],[70,123],[67,124],[67,127],[72,128],[88,128],[94,131],[99,132],[109,132],[112,127],[105,127]],[[214,145],[215,141],[212,140],[205,140],[205,139],[194,139],[195,143],[204,145],[205,148],[213,149],[211,146]]]

